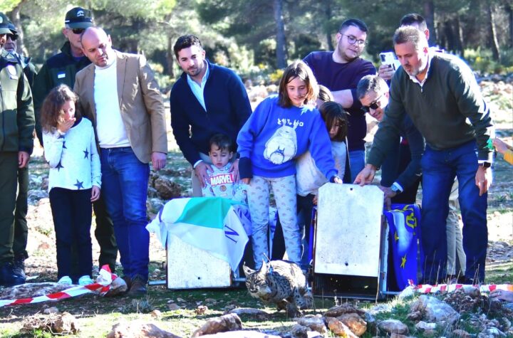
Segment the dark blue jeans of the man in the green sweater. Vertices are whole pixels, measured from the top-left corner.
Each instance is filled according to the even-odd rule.
[[[424,282],[440,282],[447,274],[445,224],[455,176],[460,182],[458,191],[463,220],[463,248],[467,254],[465,277],[474,282],[482,282],[488,244],[487,194],[479,196],[479,188],[475,184],[478,166],[475,141],[445,150],[434,150],[426,145],[421,165]]]

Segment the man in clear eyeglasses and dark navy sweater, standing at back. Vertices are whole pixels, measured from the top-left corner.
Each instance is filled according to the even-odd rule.
[[[351,182],[365,166],[365,141],[367,123],[365,112],[356,95],[356,85],[365,75],[376,73],[374,65],[360,58],[367,41],[367,25],[358,19],[343,21],[336,33],[336,48],[332,52],[310,53],[307,63],[320,85],[333,93],[335,101],[349,112],[348,149]]]

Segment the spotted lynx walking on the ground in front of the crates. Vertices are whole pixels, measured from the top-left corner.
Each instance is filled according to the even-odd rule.
[[[301,315],[299,311],[312,307],[313,298],[308,291],[306,277],[298,265],[284,260],[263,263],[260,270],[243,266],[249,295],[267,303],[274,303],[289,317]]]

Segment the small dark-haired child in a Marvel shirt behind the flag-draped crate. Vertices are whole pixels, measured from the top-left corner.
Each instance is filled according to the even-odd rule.
[[[224,134],[214,134],[209,142],[209,157],[212,170],[207,170],[208,179],[202,188],[204,197],[224,197],[247,203],[245,184],[234,179],[232,158],[234,156],[232,140]]]

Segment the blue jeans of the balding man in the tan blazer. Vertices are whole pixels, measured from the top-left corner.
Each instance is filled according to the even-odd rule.
[[[100,149],[102,194],[114,223],[123,273],[147,280],[150,233],[146,230],[148,164],[131,147]]]

